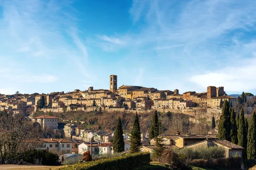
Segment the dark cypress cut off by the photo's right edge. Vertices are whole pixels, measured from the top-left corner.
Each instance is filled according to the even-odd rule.
[[[256,159],[256,114],[253,112],[253,116],[250,121],[250,126],[247,134],[247,159]]]

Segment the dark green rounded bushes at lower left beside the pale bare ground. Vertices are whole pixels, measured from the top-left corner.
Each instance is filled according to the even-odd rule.
[[[46,150],[33,149],[23,152],[20,155],[20,159],[31,164],[34,163],[34,159],[41,160],[42,158],[42,164],[58,165],[58,155],[56,153],[47,152]]]

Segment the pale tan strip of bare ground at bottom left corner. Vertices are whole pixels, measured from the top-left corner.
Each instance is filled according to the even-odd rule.
[[[16,164],[0,164],[0,170],[56,170],[57,168],[64,167],[64,166],[44,166],[44,165],[16,165]]]

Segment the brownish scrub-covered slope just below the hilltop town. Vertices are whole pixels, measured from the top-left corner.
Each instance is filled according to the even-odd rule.
[[[149,133],[151,127],[151,120],[154,111],[139,113],[140,130],[143,133]],[[44,115],[44,112],[36,112],[33,116]],[[116,126],[116,120],[120,116],[122,127],[125,131],[130,131],[133,123],[133,113],[127,112],[84,112],[72,111],[66,113],[51,113],[59,119],[58,123],[70,123],[71,120],[74,124],[85,129],[92,130],[105,130],[113,132]],[[190,116],[191,117],[191,116]],[[162,130],[164,133],[207,133],[209,128],[207,124],[194,124],[189,122],[189,116],[182,113],[160,113],[159,119],[161,120]],[[199,127],[200,126],[200,127]],[[202,127],[202,128],[201,128]],[[199,131],[198,131],[199,130]]]

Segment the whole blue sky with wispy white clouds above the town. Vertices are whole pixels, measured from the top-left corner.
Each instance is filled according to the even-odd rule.
[[[0,93],[256,94],[254,0],[0,0]]]

